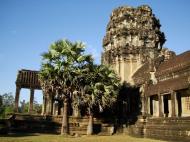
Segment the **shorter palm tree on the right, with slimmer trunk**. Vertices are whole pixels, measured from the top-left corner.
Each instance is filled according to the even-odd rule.
[[[89,85],[88,85],[89,84]],[[88,106],[89,124],[87,135],[93,134],[93,109],[103,111],[116,101],[120,81],[113,70],[104,65],[93,65],[86,76],[82,102]]]

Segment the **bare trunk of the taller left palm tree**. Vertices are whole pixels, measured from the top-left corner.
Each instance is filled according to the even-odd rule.
[[[68,129],[68,99],[64,100],[64,108],[63,108],[63,119],[62,119],[62,127],[61,127],[61,135],[69,134]]]

